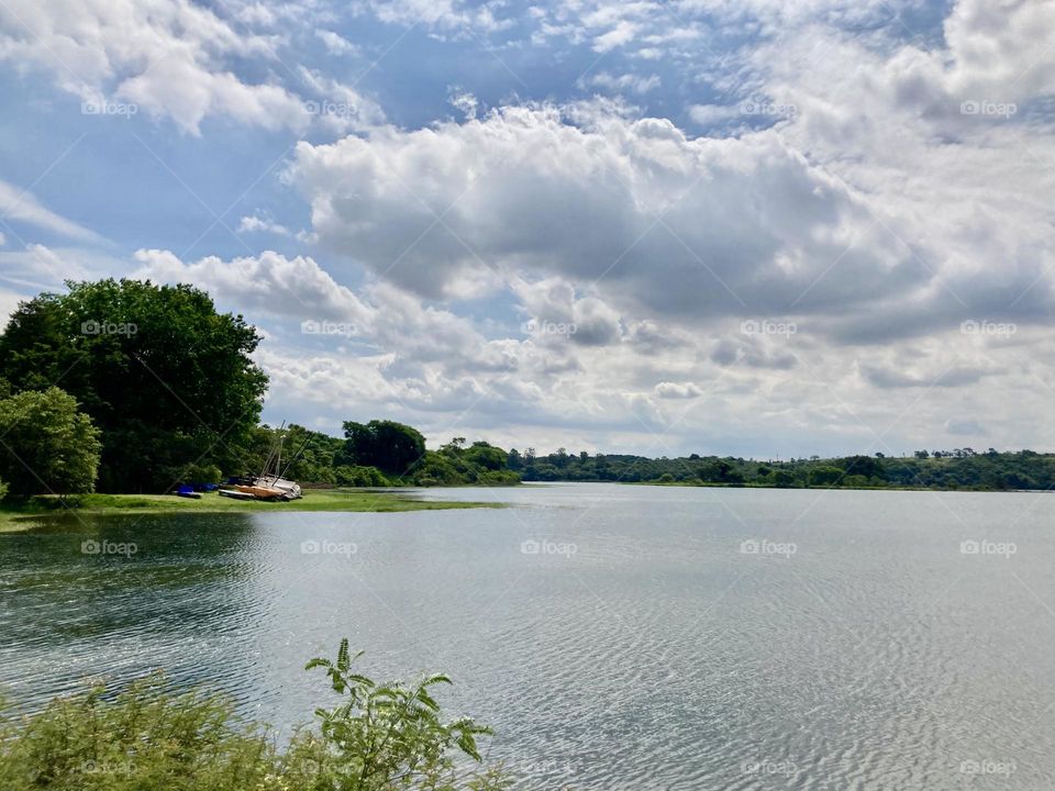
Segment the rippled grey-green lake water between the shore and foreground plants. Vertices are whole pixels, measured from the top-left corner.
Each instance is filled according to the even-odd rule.
[[[515,508],[0,535],[0,684],[162,667],[288,726],[346,635],[373,675],[448,671],[523,789],[1055,787],[1055,495],[426,497]]]

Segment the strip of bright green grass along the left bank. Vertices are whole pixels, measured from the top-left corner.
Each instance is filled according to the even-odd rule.
[[[465,508],[502,508],[493,502],[441,502],[419,500],[398,491],[363,491],[355,489],[309,489],[301,500],[259,502],[233,500],[215,492],[189,500],[174,494],[81,494],[71,500],[78,514],[120,513],[273,513],[278,511],[444,511]],[[36,497],[27,502],[0,502],[0,532],[27,530],[42,519],[66,513],[55,497]]]

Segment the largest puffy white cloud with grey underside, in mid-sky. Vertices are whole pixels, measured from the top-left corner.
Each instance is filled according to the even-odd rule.
[[[770,133],[691,140],[660,119],[506,108],[301,143],[289,178],[324,246],[433,298],[465,272],[530,271],[704,321],[834,300],[867,311],[933,287],[865,196]]]

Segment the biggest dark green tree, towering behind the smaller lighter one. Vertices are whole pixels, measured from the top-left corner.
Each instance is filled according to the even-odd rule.
[[[0,336],[15,390],[59,385],[102,430],[99,488],[159,491],[196,465],[240,466],[267,377],[260,341],[192,286],[67,282],[23,302]]]

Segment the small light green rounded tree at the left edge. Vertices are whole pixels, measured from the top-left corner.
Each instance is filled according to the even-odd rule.
[[[101,449],[99,430],[58,388],[0,400],[0,477],[15,497],[90,492]]]

